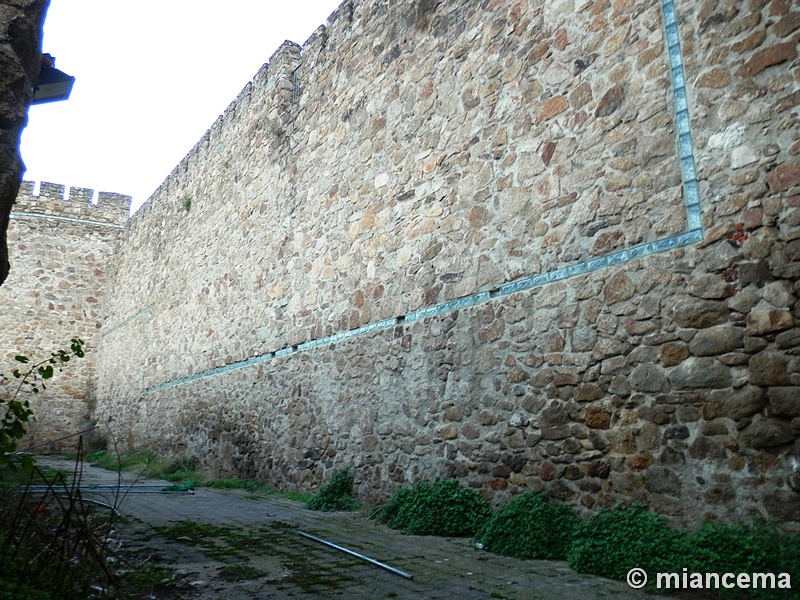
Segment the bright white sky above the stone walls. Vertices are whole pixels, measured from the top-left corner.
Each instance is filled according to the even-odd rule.
[[[133,196],[138,208],[283,43],[342,0],[51,0],[44,52],[76,77],[32,106],[24,178]]]

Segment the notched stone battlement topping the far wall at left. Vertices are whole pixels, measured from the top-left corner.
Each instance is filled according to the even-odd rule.
[[[34,213],[124,225],[131,208],[131,197],[113,192],[98,192],[97,203],[92,203],[95,190],[67,187],[42,181],[39,193],[36,182],[23,181],[17,194],[13,212]]]

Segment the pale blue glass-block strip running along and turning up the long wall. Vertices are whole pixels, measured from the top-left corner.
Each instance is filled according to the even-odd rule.
[[[517,279],[516,281],[506,283],[492,291],[478,292],[470,296],[458,298],[457,300],[451,300],[450,302],[444,302],[442,304],[416,310],[402,317],[395,317],[392,319],[378,321],[376,323],[370,323],[369,325],[364,325],[358,329],[335,333],[333,335],[305,342],[297,346],[281,348],[276,352],[268,352],[247,360],[217,367],[209,371],[203,371],[202,373],[197,373],[196,375],[191,375],[190,377],[183,377],[181,379],[168,381],[166,383],[144,389],[142,390],[142,394],[150,394],[166,388],[197,381],[198,379],[204,379],[206,377],[212,377],[214,375],[227,373],[236,369],[242,369],[254,364],[272,360],[273,358],[289,356],[296,352],[303,352],[312,348],[335,344],[337,342],[349,340],[357,336],[389,329],[403,323],[410,323],[413,321],[419,321],[421,319],[446,314],[461,308],[488,302],[493,298],[508,296],[517,292],[541,287],[543,285],[547,285],[548,283],[553,283],[554,281],[560,281],[570,277],[584,275],[592,271],[597,271],[598,269],[624,264],[631,260],[650,256],[652,254],[667,252],[675,248],[689,246],[702,241],[703,229],[702,213],[700,210],[700,192],[697,183],[697,170],[695,168],[694,143],[692,141],[691,120],[689,116],[689,101],[686,91],[686,80],[683,71],[683,54],[680,46],[680,32],[678,29],[677,15],[675,13],[675,3],[673,0],[661,0],[661,8],[664,16],[664,28],[666,31],[665,39],[667,44],[667,52],[669,55],[670,71],[672,74],[672,95],[675,110],[677,150],[683,183],[687,231],[656,240],[654,242],[648,242],[646,244],[640,244],[632,248],[613,252],[598,258],[578,262],[560,269]],[[149,307],[146,310],[149,310]],[[131,317],[128,319],[128,321],[136,318],[137,316],[138,315],[134,315],[134,317]],[[128,321],[117,325],[117,327],[114,329],[124,326]],[[112,329],[112,331],[114,329]]]

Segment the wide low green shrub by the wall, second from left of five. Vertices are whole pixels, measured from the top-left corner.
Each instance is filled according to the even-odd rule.
[[[416,535],[474,535],[490,514],[475,491],[452,479],[427,481],[396,492],[375,515],[393,529]]]

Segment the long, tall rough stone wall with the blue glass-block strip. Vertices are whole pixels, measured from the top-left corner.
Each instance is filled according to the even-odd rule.
[[[796,521],[798,26],[344,2],[126,226],[98,416],[284,486]]]

